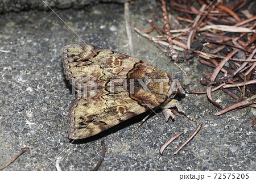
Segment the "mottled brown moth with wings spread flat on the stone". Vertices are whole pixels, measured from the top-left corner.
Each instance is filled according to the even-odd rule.
[[[82,44],[63,47],[62,57],[66,78],[77,92],[68,115],[73,140],[158,107],[183,112],[173,99],[183,90],[181,83],[146,62]]]

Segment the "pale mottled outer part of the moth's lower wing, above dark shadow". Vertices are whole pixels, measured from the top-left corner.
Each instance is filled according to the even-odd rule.
[[[147,111],[128,92],[103,95],[98,90],[95,97],[77,98],[69,112],[69,137],[81,139],[98,134],[106,129]],[[93,99],[93,100],[92,100]]]

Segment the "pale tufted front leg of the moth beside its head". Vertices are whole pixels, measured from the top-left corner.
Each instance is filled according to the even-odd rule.
[[[172,117],[172,119],[174,119],[174,114],[171,112],[170,109],[168,109],[168,108],[172,108],[172,107],[176,107],[177,110],[178,110],[179,112],[183,113],[183,115],[185,115],[186,117],[188,117],[189,120],[198,122],[197,120],[192,119],[191,117],[189,117],[189,116],[185,113],[185,111],[183,110],[183,107],[181,106],[181,104],[179,103],[179,101],[176,100],[176,99],[172,99],[170,102],[168,102],[167,104],[165,104],[164,106],[161,107],[161,108],[163,108],[164,110],[166,110],[166,111],[164,111],[164,110],[162,111],[164,117],[166,118],[166,120],[165,120],[166,122],[168,121],[168,119],[170,118],[170,116]]]

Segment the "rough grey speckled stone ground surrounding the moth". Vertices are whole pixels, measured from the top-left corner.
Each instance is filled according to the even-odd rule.
[[[131,24],[147,30],[142,18],[150,18],[155,1],[134,1],[130,5]],[[123,5],[101,3],[83,10],[56,10],[56,13],[91,45],[130,54],[127,44]],[[111,12],[111,13],[110,13]],[[74,95],[65,80],[61,47],[82,43],[52,11],[21,11],[0,15],[0,165],[5,165],[30,146],[30,152],[5,170],[92,170],[101,155],[105,140],[106,156],[99,170],[255,170],[255,131],[250,122],[253,108],[214,116],[205,95],[181,99],[188,115],[203,123],[199,134],[174,155],[179,145],[195,130],[197,123],[176,116],[167,124],[158,111],[133,132],[144,116],[125,121],[90,140],[71,144],[67,135],[68,108]],[[135,57],[144,60],[180,81],[184,73],[150,41],[132,30]],[[188,73],[191,90],[204,90],[199,81],[212,69],[195,62],[180,64]],[[224,106],[233,103],[223,92],[213,93]],[[184,131],[164,151],[159,149],[175,133]]]

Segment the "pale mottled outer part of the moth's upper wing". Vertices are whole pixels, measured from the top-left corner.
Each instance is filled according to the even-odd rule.
[[[93,80],[88,90],[96,85],[98,89],[105,87],[109,79],[126,78],[127,72],[139,62],[125,54],[77,44],[63,47],[62,57],[64,73],[73,86],[83,89],[83,84]]]

